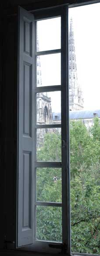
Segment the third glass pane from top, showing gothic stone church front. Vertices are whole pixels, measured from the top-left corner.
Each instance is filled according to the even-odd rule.
[[[36,96],[37,124],[61,124],[61,92],[43,92]]]

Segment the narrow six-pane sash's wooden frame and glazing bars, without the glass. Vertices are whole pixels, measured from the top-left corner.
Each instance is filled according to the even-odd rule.
[[[36,93],[39,92],[49,92],[61,90],[61,124],[53,125],[36,125],[34,128],[34,137],[36,138],[37,128],[53,128],[61,127],[61,139],[65,141],[66,146],[62,148],[62,162],[35,162],[34,168],[36,167],[62,167],[62,203],[58,203],[59,206],[62,205],[62,243],[65,246],[64,251],[71,254],[71,239],[70,239],[70,176],[69,176],[69,112],[68,112],[68,8],[55,8],[55,15],[61,16],[61,49],[48,50],[42,52],[36,52],[36,56],[50,54],[50,53],[61,53],[61,85],[57,86],[46,86],[46,87],[35,87],[34,89],[34,99],[36,99]],[[44,11],[45,12],[45,11]],[[36,15],[36,14],[35,14]],[[51,16],[55,17],[54,13],[51,12]],[[43,15],[41,12],[40,19],[50,18],[50,11],[47,15]],[[39,19],[39,16],[38,16]],[[39,19],[39,20],[40,20]],[[37,19],[36,19],[37,20]],[[65,43],[66,42],[66,43]],[[67,45],[67,47],[66,47]],[[36,102],[36,100],[34,101]],[[36,109],[36,103],[34,105]],[[36,113],[35,113],[36,117]],[[65,118],[67,117],[67,118]],[[35,141],[36,145],[36,141]],[[34,158],[36,159],[36,150],[34,152]],[[35,199],[35,198],[34,198]],[[35,205],[57,205],[56,203],[44,203],[35,202]],[[35,214],[35,209],[34,209]],[[35,227],[34,227],[35,230]],[[34,233],[35,239],[35,233]],[[42,242],[42,241],[41,241]],[[36,241],[34,241],[36,243]],[[43,241],[43,243],[48,243],[48,241]],[[57,243],[52,242],[53,244]],[[66,249],[67,248],[67,249]],[[56,252],[56,249],[54,250]]]

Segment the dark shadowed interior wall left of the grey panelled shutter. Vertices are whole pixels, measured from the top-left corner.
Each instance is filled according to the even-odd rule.
[[[2,239],[15,240],[17,170],[17,17],[3,17],[2,44]],[[4,242],[4,241],[3,241]]]

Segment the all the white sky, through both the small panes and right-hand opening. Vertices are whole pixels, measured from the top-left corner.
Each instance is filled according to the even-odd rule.
[[[100,3],[69,9],[73,20],[78,82],[84,109],[100,109]],[[61,18],[37,23],[39,51],[61,48]],[[41,38],[41,39],[40,39]],[[61,83],[60,54],[41,56],[42,85]],[[59,98],[52,96],[52,112],[60,112]],[[59,97],[59,96],[58,96]]]

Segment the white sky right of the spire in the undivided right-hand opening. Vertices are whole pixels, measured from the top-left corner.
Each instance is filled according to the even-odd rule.
[[[84,109],[100,109],[100,3],[70,8]]]

